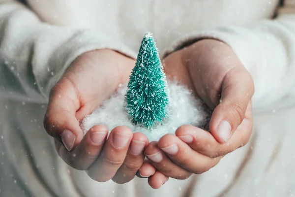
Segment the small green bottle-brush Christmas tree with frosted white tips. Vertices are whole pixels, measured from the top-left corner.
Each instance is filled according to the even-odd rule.
[[[169,90],[159,53],[151,33],[141,43],[125,95],[125,105],[134,124],[147,128],[167,117]]]

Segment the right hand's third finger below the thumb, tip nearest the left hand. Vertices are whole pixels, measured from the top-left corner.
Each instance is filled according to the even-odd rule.
[[[168,177],[176,179],[186,179],[191,173],[172,162],[161,149],[158,148],[157,142],[150,142],[145,150],[149,162],[155,168]]]

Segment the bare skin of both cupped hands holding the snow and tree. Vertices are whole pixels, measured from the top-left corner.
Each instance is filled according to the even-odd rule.
[[[186,179],[209,170],[224,155],[247,143],[252,131],[252,78],[228,45],[212,39],[198,41],[163,61],[168,78],[186,85],[213,110],[210,132],[185,125],[175,135],[148,143],[143,133],[117,127],[107,140],[105,134],[99,144],[93,143],[91,133],[104,136],[107,129],[94,126],[83,136],[77,120],[109,98],[118,84],[127,83],[134,65],[135,60],[115,51],[88,52],[77,58],[52,89],[44,127],[55,138],[59,156],[67,164],[85,170],[99,182],[113,179],[125,183],[136,174],[148,177],[148,184],[157,189],[169,177]],[[222,120],[231,127],[226,137],[218,130]],[[66,130],[74,137],[67,137]],[[65,146],[62,137],[74,143]],[[124,147],[114,144],[124,139]],[[139,155],[132,154],[134,147],[142,149]]]

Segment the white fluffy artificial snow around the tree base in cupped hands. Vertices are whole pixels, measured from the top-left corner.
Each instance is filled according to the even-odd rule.
[[[109,131],[118,126],[127,126],[133,132],[145,133],[150,141],[158,141],[167,133],[175,133],[176,129],[182,125],[203,128],[209,117],[204,103],[200,99],[196,99],[186,87],[177,82],[168,81],[168,87],[170,90],[170,115],[162,124],[147,129],[134,125],[130,121],[124,105],[124,96],[127,90],[124,85],[82,121],[81,128],[84,134],[94,125],[105,125]]]

